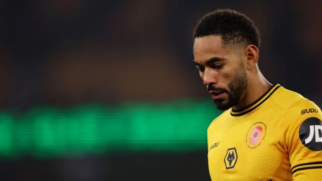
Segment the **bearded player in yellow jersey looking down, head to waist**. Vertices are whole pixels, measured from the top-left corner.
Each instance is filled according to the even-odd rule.
[[[209,125],[215,180],[322,180],[322,112],[261,73],[260,35],[246,15],[217,10],[194,29],[194,64],[217,109]]]

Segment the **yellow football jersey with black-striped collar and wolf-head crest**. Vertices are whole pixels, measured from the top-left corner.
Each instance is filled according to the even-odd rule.
[[[313,102],[274,84],[250,106],[210,124],[211,180],[322,180],[321,120]]]

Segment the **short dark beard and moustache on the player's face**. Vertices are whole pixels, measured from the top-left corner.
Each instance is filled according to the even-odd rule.
[[[216,108],[221,111],[228,110],[232,108],[234,105],[237,105],[239,103],[239,100],[243,96],[244,92],[247,88],[247,73],[246,71],[243,71],[236,75],[230,83],[228,83],[227,87],[229,91],[225,88],[216,88],[212,87],[213,90],[222,91],[226,94],[228,94],[227,100],[225,99],[217,99],[213,100],[214,104],[216,105]]]

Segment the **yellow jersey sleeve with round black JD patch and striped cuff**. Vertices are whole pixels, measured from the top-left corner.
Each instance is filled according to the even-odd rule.
[[[289,155],[294,181],[322,180],[322,112],[303,99],[283,117],[281,140]]]

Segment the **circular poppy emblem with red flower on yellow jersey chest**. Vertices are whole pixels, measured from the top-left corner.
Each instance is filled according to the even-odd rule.
[[[246,143],[249,148],[256,148],[261,145],[266,136],[266,125],[262,122],[253,124],[247,132]]]

